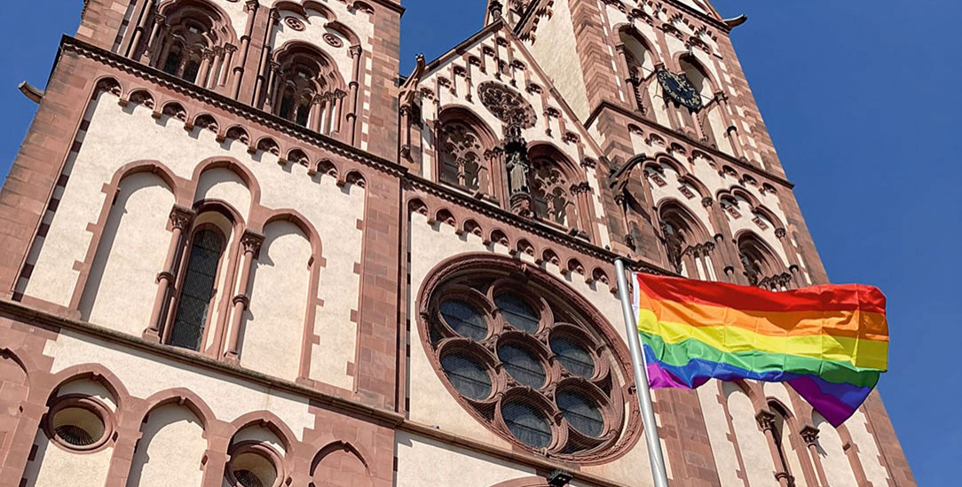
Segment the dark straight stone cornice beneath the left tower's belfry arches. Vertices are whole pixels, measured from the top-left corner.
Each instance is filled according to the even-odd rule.
[[[299,139],[306,145],[311,145],[332,154],[351,159],[368,167],[373,167],[377,170],[381,170],[395,176],[407,172],[405,167],[398,166],[392,161],[375,156],[367,151],[346,144],[342,141],[336,141],[330,137],[323,136],[279,116],[267,114],[264,111],[257,110],[250,105],[241,103],[233,98],[215,93],[211,90],[202,89],[192,83],[188,83],[180,78],[177,78],[176,76],[171,76],[164,71],[140,64],[129,58],[125,58],[116,53],[104,50],[77,38],[63,36],[61,39],[60,51],[57,55],[57,61],[55,62],[55,68],[56,64],[60,63],[60,58],[65,52],[74,53],[95,62],[106,64],[127,73],[134,74],[147,82],[154,83],[157,86],[161,86],[169,90],[175,90],[185,96],[190,96],[190,98],[206,103],[212,107],[224,110],[233,115],[242,116],[252,123],[256,123],[276,132],[283,133],[289,137]]]

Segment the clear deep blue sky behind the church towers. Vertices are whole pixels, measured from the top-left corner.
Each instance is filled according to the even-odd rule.
[[[406,74],[418,52],[432,59],[480,28],[486,2],[404,4]],[[715,4],[750,17],[732,38],[829,275],[889,296],[891,372],[879,388],[914,472],[921,485],[955,484],[962,165],[949,145],[962,111],[962,2]],[[45,84],[81,5],[0,1],[4,178],[36,109],[16,84]]]

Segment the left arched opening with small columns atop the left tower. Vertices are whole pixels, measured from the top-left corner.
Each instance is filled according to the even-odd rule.
[[[165,4],[165,29],[150,42],[151,63],[167,74],[213,88],[228,68],[222,54],[234,42],[226,15],[204,0]]]

